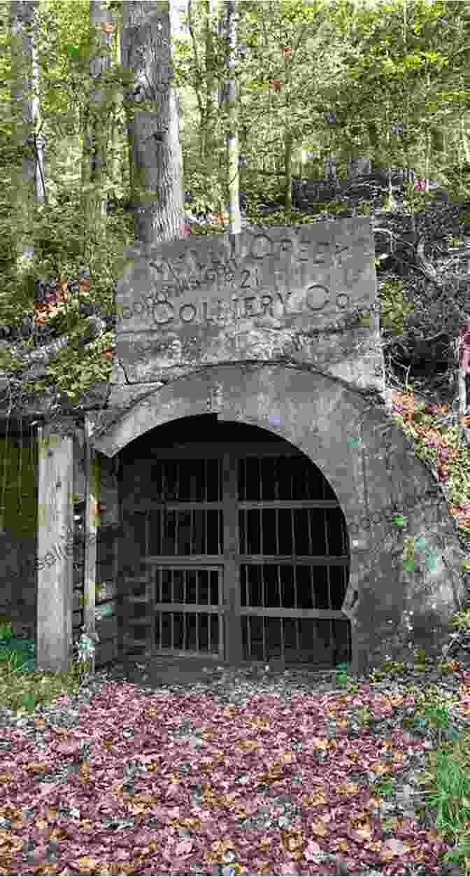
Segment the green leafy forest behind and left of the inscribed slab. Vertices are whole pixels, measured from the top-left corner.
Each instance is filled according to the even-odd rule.
[[[405,171],[399,206],[422,274],[430,181],[459,205],[454,231],[470,221],[466,4],[41,0],[2,3],[0,16],[0,364],[15,398],[53,388],[75,400],[109,379],[114,291],[135,239],[239,230],[240,203],[250,224],[260,202],[280,205],[267,224],[367,212],[367,198],[341,196],[292,209],[297,178],[334,168],[343,181],[364,160],[389,181]],[[390,182],[382,210],[395,195]],[[400,282],[382,286],[387,339],[409,307]],[[456,305],[451,317],[455,332],[468,315]]]

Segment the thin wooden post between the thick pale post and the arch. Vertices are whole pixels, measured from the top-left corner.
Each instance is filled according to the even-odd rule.
[[[83,582],[83,620],[86,633],[96,645],[96,539],[100,524],[100,470],[96,450],[91,445],[92,424],[85,415],[85,555]],[[95,672],[95,656],[91,663]]]

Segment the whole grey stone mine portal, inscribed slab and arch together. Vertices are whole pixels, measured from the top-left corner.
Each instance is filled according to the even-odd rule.
[[[370,218],[134,247],[125,253],[117,308],[110,393],[102,409],[89,407],[101,469],[97,663],[115,656],[122,623],[119,451],[169,421],[208,412],[288,440],[330,482],[350,536],[342,611],[351,624],[352,672],[387,655],[400,660],[411,641],[436,650],[466,596],[463,555],[441,488],[389,416]],[[78,436],[77,506],[83,461]],[[74,538],[78,632],[79,528]],[[5,543],[9,563],[15,552],[31,553],[32,544],[19,545]],[[18,620],[27,618],[24,607],[35,599],[27,575],[15,593]]]

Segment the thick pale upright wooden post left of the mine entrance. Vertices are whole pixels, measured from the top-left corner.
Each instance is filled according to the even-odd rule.
[[[69,434],[65,434],[69,431]],[[38,427],[36,667],[66,672],[72,645],[73,422]]]

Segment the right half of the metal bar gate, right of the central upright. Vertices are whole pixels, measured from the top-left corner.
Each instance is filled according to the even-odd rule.
[[[309,460],[247,458],[239,467],[246,659],[299,660],[304,652],[331,660],[333,625],[348,624],[341,612],[349,562],[342,511]]]

